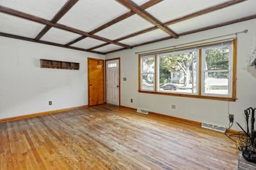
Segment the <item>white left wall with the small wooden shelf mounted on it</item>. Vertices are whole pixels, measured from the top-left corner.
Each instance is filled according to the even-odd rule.
[[[0,37],[0,119],[88,104],[87,57],[105,58]],[[80,69],[40,68],[40,59],[79,62]]]

